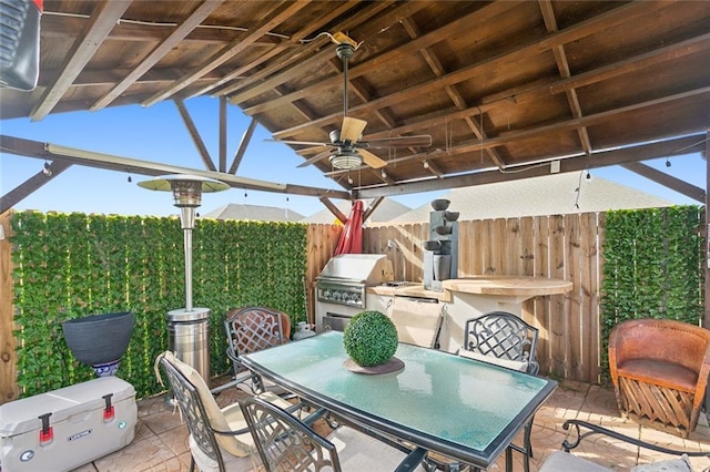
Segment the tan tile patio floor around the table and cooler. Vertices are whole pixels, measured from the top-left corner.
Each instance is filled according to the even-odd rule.
[[[243,396],[236,389],[229,389],[217,397],[221,406],[229,404]],[[532,450],[530,470],[537,471],[539,465],[552,452],[560,450],[567,437],[561,424],[567,419],[580,419],[605,425],[627,435],[655,442],[673,449],[688,451],[710,451],[710,428],[704,415],[697,430],[689,439],[681,439],[670,433],[622,419],[617,410],[613,391],[607,388],[586,383],[564,381],[552,397],[535,415],[532,428]],[[519,441],[520,438],[517,439]],[[516,442],[517,442],[516,441]],[[653,458],[666,458],[663,454],[645,451],[626,443],[619,443],[602,437],[592,437],[577,448],[575,454],[615,470],[629,470],[637,463],[648,463]],[[521,455],[514,452],[515,471],[523,471]],[[696,472],[710,468],[710,459],[691,458]],[[124,449],[87,464],[77,472],[109,471],[189,471],[190,452],[187,450],[187,431],[181,424],[180,414],[173,413],[163,397],[139,401],[139,424],[135,439]],[[504,471],[505,462],[498,460],[489,470]]]

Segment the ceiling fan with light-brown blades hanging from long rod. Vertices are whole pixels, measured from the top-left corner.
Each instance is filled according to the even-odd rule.
[[[373,168],[381,168],[387,165],[387,162],[367,150],[430,146],[432,136],[428,134],[361,141],[367,122],[347,115],[347,64],[359,44],[342,32],[328,35],[331,40],[337,44],[335,51],[337,57],[343,61],[343,124],[339,130],[331,131],[329,143],[274,140],[284,144],[327,147],[327,151],[308,158],[300,164],[298,167],[305,167],[329,156],[331,164],[335,168],[355,168],[359,167],[363,162]]]

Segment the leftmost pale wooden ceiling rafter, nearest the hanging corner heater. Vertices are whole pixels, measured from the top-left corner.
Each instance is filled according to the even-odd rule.
[[[54,83],[44,91],[42,98],[30,113],[32,121],[42,120],[52,111],[130,4],[131,1],[106,1],[97,3],[97,10],[94,14],[92,14],[87,33],[81,37],[81,40],[74,42],[71,52],[68,54],[68,60],[64,62],[61,74],[59,74]]]

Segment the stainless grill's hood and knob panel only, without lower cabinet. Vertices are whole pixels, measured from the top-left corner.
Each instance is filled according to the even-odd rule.
[[[383,254],[342,254],[316,277],[318,302],[364,309],[365,289],[393,279],[392,263]]]

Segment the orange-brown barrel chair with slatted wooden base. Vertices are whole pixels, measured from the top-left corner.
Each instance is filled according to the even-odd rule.
[[[621,414],[688,438],[710,374],[710,330],[674,320],[620,322],[609,336],[609,370]]]

